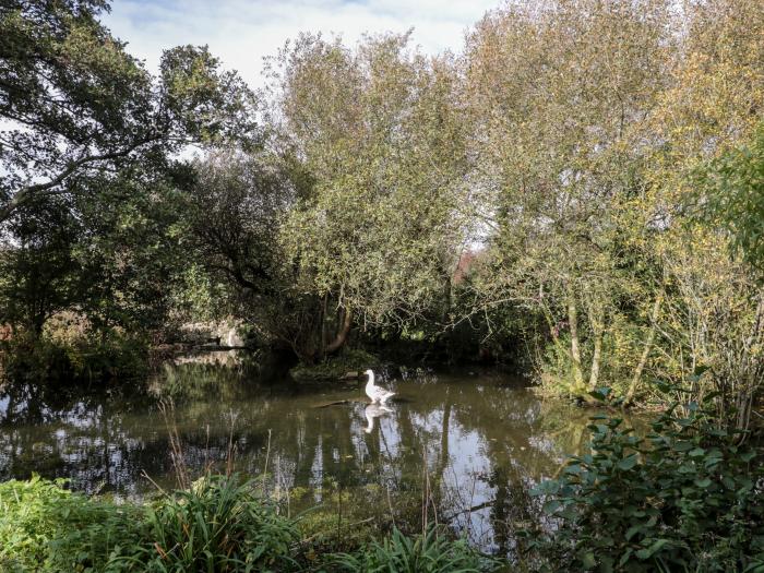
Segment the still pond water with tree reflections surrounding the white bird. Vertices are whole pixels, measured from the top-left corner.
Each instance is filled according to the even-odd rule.
[[[528,490],[586,440],[590,414],[545,402],[489,372],[397,372],[390,411],[363,382],[259,385],[237,370],[184,365],[162,380],[195,474],[267,473],[288,511],[320,504],[346,523],[369,517],[450,523],[484,549],[511,552],[512,532],[538,523]],[[174,485],[169,431],[156,398],[0,389],[0,480],[67,477],[75,489],[140,498]],[[426,508],[426,511],[423,511]]]

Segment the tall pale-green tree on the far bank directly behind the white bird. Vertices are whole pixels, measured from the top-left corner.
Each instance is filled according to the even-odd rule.
[[[299,288],[317,297],[313,351],[342,346],[354,324],[445,315],[466,236],[453,62],[407,35],[353,49],[303,35],[272,73],[280,145],[313,181],[280,232]]]

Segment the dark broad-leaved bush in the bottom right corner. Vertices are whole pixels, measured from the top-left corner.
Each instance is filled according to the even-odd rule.
[[[762,450],[705,405],[684,410],[646,438],[592,419],[592,453],[535,491],[559,520],[551,534],[526,532],[542,570],[764,571]]]

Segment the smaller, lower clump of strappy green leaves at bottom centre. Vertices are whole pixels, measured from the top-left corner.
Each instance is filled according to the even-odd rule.
[[[451,541],[435,528],[414,537],[394,528],[381,544],[373,542],[357,554],[337,554],[334,561],[341,571],[358,573],[478,573],[493,571],[498,564],[464,540]]]

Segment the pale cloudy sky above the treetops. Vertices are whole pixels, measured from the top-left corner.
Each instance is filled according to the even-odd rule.
[[[414,28],[413,44],[428,53],[458,51],[464,34],[499,0],[112,0],[103,21],[128,51],[156,72],[162,50],[207,44],[252,87],[263,84],[264,56],[300,32],[341,34]]]

